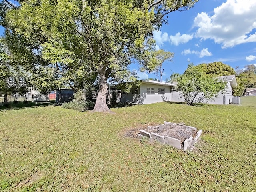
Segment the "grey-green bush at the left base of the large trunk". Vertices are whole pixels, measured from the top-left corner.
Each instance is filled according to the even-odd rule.
[[[74,94],[74,99],[71,102],[62,104],[63,108],[74,109],[77,111],[86,111],[94,108],[95,102],[86,101],[82,90]]]

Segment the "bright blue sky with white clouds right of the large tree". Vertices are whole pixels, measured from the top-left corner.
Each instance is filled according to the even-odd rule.
[[[241,69],[256,64],[256,0],[199,0],[190,10],[170,13],[168,22],[154,32],[157,47],[174,52],[173,62],[163,64],[163,80],[183,73],[188,61],[221,61]]]

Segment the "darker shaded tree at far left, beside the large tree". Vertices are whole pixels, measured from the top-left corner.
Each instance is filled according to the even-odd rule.
[[[18,1],[23,2],[23,1]],[[8,68],[12,71],[12,92],[24,94],[24,85],[35,86],[42,94],[58,89],[62,82],[54,66],[42,58],[40,46],[46,39],[33,30],[31,34],[22,35],[16,32],[15,25],[8,20],[8,12],[18,11],[20,6],[8,0],[0,2],[0,25],[5,28],[1,44],[8,49]],[[17,82],[17,83],[14,83]],[[21,86],[23,84],[23,86]],[[17,85],[19,88],[14,88]],[[23,89],[22,89],[23,87]],[[26,87],[27,88],[27,87]],[[10,90],[10,89],[9,89]]]

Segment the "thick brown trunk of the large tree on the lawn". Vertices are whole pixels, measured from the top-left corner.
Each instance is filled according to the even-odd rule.
[[[92,112],[111,112],[107,106],[108,85],[105,70],[100,70],[100,88]]]

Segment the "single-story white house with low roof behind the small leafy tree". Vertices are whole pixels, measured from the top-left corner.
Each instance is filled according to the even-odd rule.
[[[227,82],[226,90],[220,92],[218,96],[207,100],[203,94],[198,96],[198,101],[209,104],[229,104],[232,103],[232,86],[237,86],[235,75],[221,76],[219,80]],[[121,102],[132,102],[135,104],[150,104],[162,101],[184,102],[180,92],[175,91],[175,84],[158,82],[152,80],[140,80],[138,88],[132,88],[129,93],[122,91]]]

